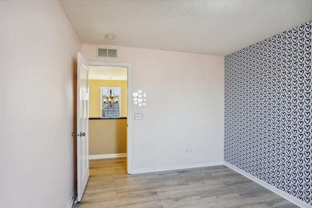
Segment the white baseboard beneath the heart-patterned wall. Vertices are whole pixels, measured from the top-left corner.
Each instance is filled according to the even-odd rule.
[[[281,197],[283,197],[284,199],[292,202],[293,204],[299,206],[300,208],[312,208],[312,206],[308,205],[307,203],[301,201],[300,199],[297,199],[296,197],[280,190],[280,189],[277,189],[276,187],[273,187],[271,184],[268,184],[267,182],[264,182],[262,181],[261,179],[253,176],[252,174],[244,171],[244,170],[241,170],[237,167],[235,167],[234,165],[231,165],[230,163],[224,161],[224,165],[229,167],[230,169],[238,172],[239,174],[242,174],[243,176],[253,180],[254,182],[256,182],[257,184],[273,191],[274,193],[276,193],[277,195],[280,195]]]

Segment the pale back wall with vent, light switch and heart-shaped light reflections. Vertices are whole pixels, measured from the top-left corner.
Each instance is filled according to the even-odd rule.
[[[132,170],[223,161],[224,57],[113,47],[109,59],[96,47],[81,45],[86,60],[131,63],[132,92],[148,93],[147,106],[132,105]]]

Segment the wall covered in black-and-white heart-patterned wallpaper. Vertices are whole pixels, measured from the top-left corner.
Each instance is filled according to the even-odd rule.
[[[312,205],[312,22],[225,57],[224,160]]]

